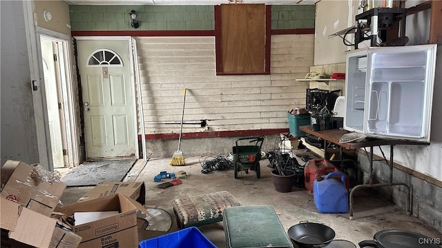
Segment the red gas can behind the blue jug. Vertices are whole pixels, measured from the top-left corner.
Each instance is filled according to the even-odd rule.
[[[338,169],[325,158],[311,159],[304,167],[305,188],[313,193],[313,183],[318,176],[324,176],[329,172],[337,172]]]

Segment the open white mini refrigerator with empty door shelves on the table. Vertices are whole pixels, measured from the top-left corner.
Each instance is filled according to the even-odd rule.
[[[437,45],[347,53],[344,129],[430,142]]]

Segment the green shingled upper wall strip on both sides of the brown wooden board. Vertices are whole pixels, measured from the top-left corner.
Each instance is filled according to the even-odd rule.
[[[73,31],[134,30],[128,12],[136,10],[137,30],[214,30],[214,6],[69,6]],[[272,6],[272,29],[314,28],[315,6]]]

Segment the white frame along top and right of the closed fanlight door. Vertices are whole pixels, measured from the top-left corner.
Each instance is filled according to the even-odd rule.
[[[137,101],[135,98],[135,74],[134,74],[134,59],[133,59],[133,45],[132,45],[132,37],[130,36],[100,36],[100,37],[73,37],[77,41],[127,41],[128,45],[128,54],[129,54],[129,70],[130,78],[131,78],[131,96],[132,96],[132,115],[133,115],[133,132],[134,132],[134,147],[135,147],[135,158],[140,158],[140,151],[138,145],[138,125],[137,125]],[[77,63],[82,63],[83,61],[77,61]],[[78,65],[77,65],[78,68]],[[81,72],[79,72],[80,74]],[[81,120],[83,121],[83,120]],[[84,129],[81,130],[81,133],[84,134]],[[86,151],[85,151],[86,152]]]

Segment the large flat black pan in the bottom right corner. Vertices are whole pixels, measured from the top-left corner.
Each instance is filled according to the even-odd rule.
[[[386,229],[374,234],[374,240],[359,242],[359,247],[377,248],[442,248],[439,237],[430,238],[412,231]]]

